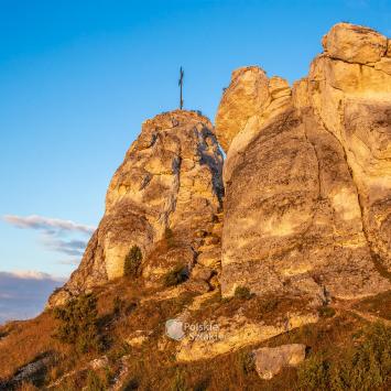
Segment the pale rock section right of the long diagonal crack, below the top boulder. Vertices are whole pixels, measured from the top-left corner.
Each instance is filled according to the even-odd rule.
[[[360,36],[383,42],[366,30]],[[384,54],[382,43],[370,47]],[[361,65],[362,58],[352,57],[349,64],[328,52],[318,56],[308,75],[308,98],[317,121],[344,149],[370,249],[391,269],[391,75],[389,58],[369,58],[377,62]]]

